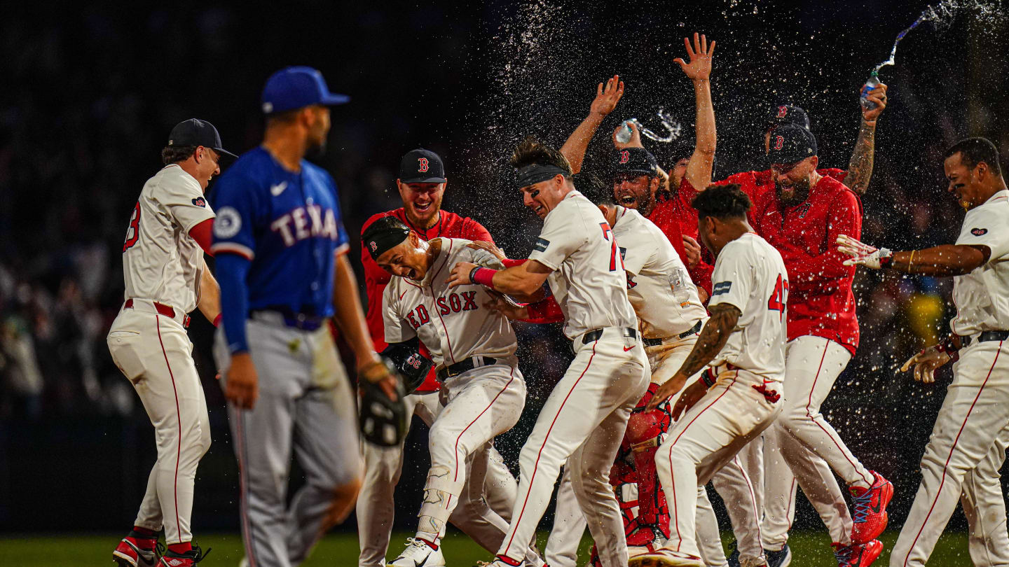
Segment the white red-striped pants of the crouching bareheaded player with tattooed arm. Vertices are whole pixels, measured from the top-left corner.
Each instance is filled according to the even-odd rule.
[[[753,386],[764,380],[746,370],[727,370],[697,404],[669,429],[655,455],[659,479],[672,515],[667,549],[700,556],[694,536],[697,486],[730,463],[770,427],[781,411]]]

